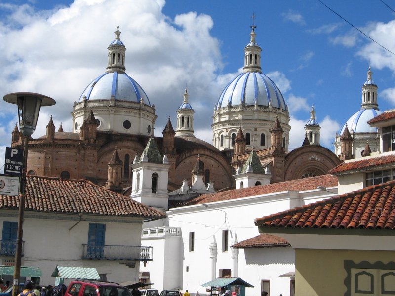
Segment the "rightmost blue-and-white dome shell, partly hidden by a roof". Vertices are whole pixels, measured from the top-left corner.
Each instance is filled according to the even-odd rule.
[[[343,134],[344,129],[347,127],[349,131],[351,130],[354,131],[354,133],[377,133],[377,128],[376,127],[371,127],[367,122],[372,119],[373,117],[376,117],[377,115],[380,115],[382,112],[373,108],[369,109],[361,109],[357,111],[355,114],[353,114],[343,125],[342,129],[340,130],[340,135]]]

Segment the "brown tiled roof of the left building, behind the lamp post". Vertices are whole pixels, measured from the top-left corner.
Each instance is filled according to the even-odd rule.
[[[111,216],[164,216],[155,209],[87,180],[27,176],[25,188],[25,210]],[[18,196],[0,195],[0,209],[18,207]]]

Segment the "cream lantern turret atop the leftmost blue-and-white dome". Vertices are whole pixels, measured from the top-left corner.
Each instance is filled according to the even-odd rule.
[[[125,68],[125,51],[126,47],[120,40],[119,26],[115,33],[115,39],[108,46],[108,64],[107,72],[124,72]]]

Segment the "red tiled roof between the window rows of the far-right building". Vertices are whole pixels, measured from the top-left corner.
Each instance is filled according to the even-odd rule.
[[[350,162],[343,162],[339,164],[337,167],[334,167],[329,171],[331,174],[336,174],[336,173],[343,173],[346,171],[352,171],[352,170],[367,170],[369,168],[374,168],[378,166],[384,166],[384,165],[389,165],[393,164],[395,162],[395,154],[390,154],[390,155],[382,155],[378,157],[372,157],[368,159],[361,159],[361,160],[356,160],[356,161],[350,161]]]

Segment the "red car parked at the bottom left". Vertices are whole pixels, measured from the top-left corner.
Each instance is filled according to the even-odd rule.
[[[65,296],[131,296],[129,289],[117,283],[75,280],[67,287]]]

